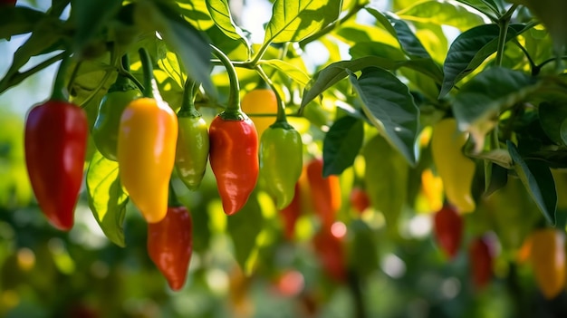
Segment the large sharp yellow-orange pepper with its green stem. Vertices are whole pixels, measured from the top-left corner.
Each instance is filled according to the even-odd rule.
[[[120,181],[149,223],[168,211],[168,182],[175,163],[178,118],[161,99],[145,49],[139,50],[146,89],[122,112],[118,135]]]

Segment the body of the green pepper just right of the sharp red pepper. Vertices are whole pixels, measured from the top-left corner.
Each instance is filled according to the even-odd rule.
[[[292,202],[302,168],[303,143],[299,132],[285,121],[276,121],[264,131],[260,141],[260,176],[275,198],[277,209]]]

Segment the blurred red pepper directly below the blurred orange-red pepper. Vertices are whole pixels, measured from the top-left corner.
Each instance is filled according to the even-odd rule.
[[[332,226],[322,226],[313,237],[313,247],[325,274],[337,282],[344,282],[347,271],[342,236],[335,236]]]

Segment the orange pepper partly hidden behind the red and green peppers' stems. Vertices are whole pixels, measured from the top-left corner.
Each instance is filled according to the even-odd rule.
[[[270,114],[278,111],[278,98],[263,79],[260,79],[254,90],[245,94],[242,98],[242,111],[250,116],[258,136],[262,136],[264,131],[274,123],[274,117],[254,116],[256,114]]]

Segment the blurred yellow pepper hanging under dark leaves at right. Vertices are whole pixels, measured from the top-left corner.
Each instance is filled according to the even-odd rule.
[[[466,139],[467,134],[457,130],[453,118],[439,120],[431,136],[431,154],[437,174],[443,180],[447,200],[460,213],[472,212],[476,208],[471,194],[476,165],[462,152]]]

